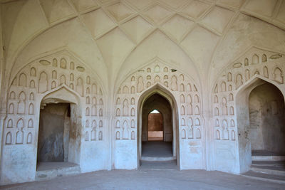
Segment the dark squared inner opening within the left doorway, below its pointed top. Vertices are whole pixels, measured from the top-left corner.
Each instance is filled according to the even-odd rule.
[[[68,162],[71,131],[71,105],[49,103],[40,111],[37,171],[70,167]]]

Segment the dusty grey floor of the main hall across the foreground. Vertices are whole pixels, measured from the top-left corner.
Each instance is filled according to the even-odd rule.
[[[50,181],[1,186],[0,189],[285,189],[284,184],[248,179],[220,171],[178,171],[142,164],[139,170],[95,171]]]

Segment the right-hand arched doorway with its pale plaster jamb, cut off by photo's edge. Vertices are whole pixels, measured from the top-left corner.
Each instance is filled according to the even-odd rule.
[[[285,155],[285,105],[279,88],[254,78],[239,90],[236,101],[240,172]]]

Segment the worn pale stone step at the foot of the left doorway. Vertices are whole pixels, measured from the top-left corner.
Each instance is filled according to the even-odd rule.
[[[77,164],[72,164],[69,166],[56,166],[51,169],[44,169],[36,171],[36,181],[43,181],[48,179],[53,179],[58,176],[71,176],[75,174],[81,174],[81,168]]]

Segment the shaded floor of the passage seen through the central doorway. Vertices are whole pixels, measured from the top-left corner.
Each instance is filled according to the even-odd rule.
[[[172,157],[172,142],[142,142],[142,157]]]

